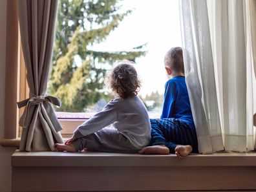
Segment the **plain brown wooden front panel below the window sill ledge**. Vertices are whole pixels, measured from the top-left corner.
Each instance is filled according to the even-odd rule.
[[[256,189],[256,167],[13,167],[12,191]]]

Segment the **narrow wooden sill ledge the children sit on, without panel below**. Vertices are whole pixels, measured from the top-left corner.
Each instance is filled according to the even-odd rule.
[[[157,163],[156,163],[157,162]],[[179,159],[176,155],[139,155],[101,152],[20,152],[12,155],[13,166],[256,166],[256,153],[192,154]]]

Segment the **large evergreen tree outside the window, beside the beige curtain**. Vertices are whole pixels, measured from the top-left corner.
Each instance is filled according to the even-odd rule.
[[[110,94],[102,91],[109,65],[145,54],[142,46],[132,52],[92,49],[131,14],[131,10],[122,12],[121,7],[118,0],[59,0],[48,92],[62,101],[61,111],[81,112],[100,98],[109,99]]]

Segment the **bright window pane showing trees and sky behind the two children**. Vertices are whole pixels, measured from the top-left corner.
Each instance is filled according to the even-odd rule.
[[[178,1],[157,5],[145,0],[59,1],[48,93],[63,103],[57,109],[63,125],[70,119],[79,125],[114,98],[103,87],[104,75],[122,59],[135,61],[142,80],[139,96],[149,116],[160,117],[167,81],[164,55],[182,43]]]

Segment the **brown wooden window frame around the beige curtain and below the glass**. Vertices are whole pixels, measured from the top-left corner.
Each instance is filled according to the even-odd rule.
[[[17,12],[17,1],[7,1],[6,4],[6,77],[5,77],[5,134],[4,140],[20,140],[22,127],[19,126],[25,107],[17,108],[17,101],[29,98],[29,87],[27,83],[27,70],[23,50],[21,46],[21,36],[19,32],[19,21]],[[58,118],[63,130],[63,138],[73,134],[78,125],[89,118],[74,119]]]

